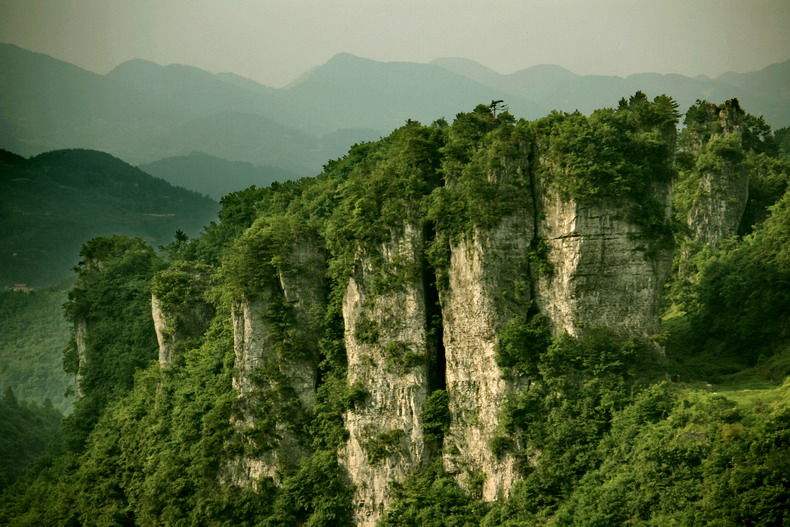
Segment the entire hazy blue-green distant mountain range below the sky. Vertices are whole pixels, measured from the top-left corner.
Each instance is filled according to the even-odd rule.
[[[518,116],[590,112],[642,90],[682,110],[738,97],[774,127],[790,124],[790,61],[752,73],[577,75],[559,66],[500,74],[462,58],[378,62],[342,53],[283,88],[232,73],[143,60],[99,75],[0,45],[0,147],[24,155],[92,148],[142,164],[193,151],[313,175],[354,142],[406,119],[430,122],[502,99]]]

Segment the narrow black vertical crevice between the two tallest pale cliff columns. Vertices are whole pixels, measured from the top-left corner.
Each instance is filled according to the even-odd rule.
[[[423,226],[423,240],[428,247],[436,237],[436,226],[426,222]],[[425,329],[428,340],[428,392],[444,390],[447,387],[446,360],[444,350],[444,327],[442,325],[442,307],[439,302],[439,288],[436,280],[436,269],[430,265],[425,254],[420,263],[422,272],[422,288],[425,295]]]

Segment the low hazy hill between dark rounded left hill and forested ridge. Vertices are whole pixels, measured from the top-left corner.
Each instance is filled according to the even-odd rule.
[[[168,183],[219,199],[251,185],[267,187],[275,181],[297,179],[293,172],[243,161],[228,161],[203,152],[168,157],[140,165],[144,172]]]

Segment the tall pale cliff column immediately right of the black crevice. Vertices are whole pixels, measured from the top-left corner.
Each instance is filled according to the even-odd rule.
[[[506,398],[515,387],[496,360],[498,333],[530,303],[531,207],[452,247],[449,288],[442,293],[446,381],[452,421],[444,438],[448,472],[482,497],[508,493],[517,477],[511,456],[491,449]]]

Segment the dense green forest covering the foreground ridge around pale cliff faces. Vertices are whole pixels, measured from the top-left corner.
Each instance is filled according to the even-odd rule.
[[[637,92],[589,115],[531,121],[492,102],[452,122],[410,120],[316,177],[227,194],[197,236],[179,231],[154,246],[167,227],[157,223],[146,224],[147,240],[93,238],[62,299],[74,328],[64,374],[37,388],[52,403],[22,403],[11,390],[0,401],[0,524],[352,525],[358,489],[339,452],[349,416],[376,396],[349,382],[353,342],[382,350],[383,363],[365,366],[382,377],[428,378],[425,454],[390,483],[380,525],[783,525],[787,138],[737,100],[697,101],[680,115],[672,98]],[[198,197],[181,199],[178,214],[187,214]],[[538,227],[555,202],[614,208],[641,233],[639,258],[667,255],[655,331],[600,325],[571,334],[552,322],[536,299],[561,272],[554,240]],[[723,214],[730,225],[719,228],[724,209],[737,217]],[[517,474],[492,501],[482,475],[459,478],[443,463],[458,416],[443,378],[441,318],[458,247],[514,217],[534,229],[502,278],[514,285],[491,286],[518,307],[495,335],[496,366],[511,389],[485,448],[514,460]],[[404,225],[422,239],[413,259],[390,249],[408,235]],[[319,293],[305,306],[298,293],[308,281]],[[427,351],[387,341],[386,324],[397,320],[361,317],[350,330],[351,284],[364,285],[371,302],[419,284]],[[49,309],[46,296],[58,294],[8,293],[0,310]],[[177,314],[159,342],[152,294]],[[242,327],[247,308],[260,309],[265,332]],[[24,322],[14,327],[23,332]],[[247,334],[263,342],[251,372],[240,360]],[[164,362],[162,338],[174,343]],[[24,360],[39,359],[3,357],[4,384],[30,374]],[[309,401],[288,364],[312,368]],[[77,380],[73,411],[61,419],[52,404],[66,408],[57,396],[66,375]],[[369,465],[399,462],[407,435],[371,436]],[[275,459],[277,470],[245,478],[234,469],[239,459]]]

